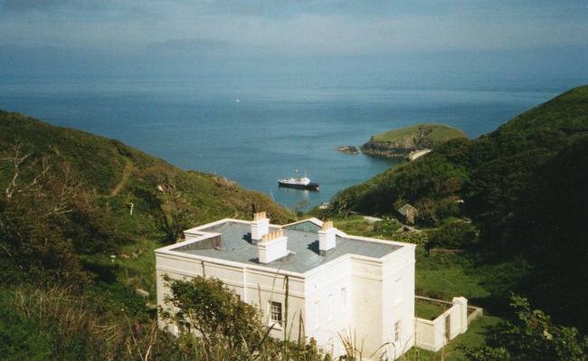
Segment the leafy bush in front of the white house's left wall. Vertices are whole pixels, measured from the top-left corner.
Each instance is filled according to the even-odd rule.
[[[163,312],[164,319],[181,325],[180,344],[202,352],[204,359],[323,359],[312,339],[307,343],[303,338],[292,342],[270,337],[271,328],[263,324],[261,312],[238,299],[221,280],[172,280],[168,276],[164,280],[171,290],[166,304],[176,312]]]

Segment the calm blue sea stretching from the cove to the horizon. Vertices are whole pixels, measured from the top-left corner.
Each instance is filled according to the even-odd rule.
[[[574,86],[510,81],[479,86],[236,79],[0,82],[0,109],[77,128],[214,173],[289,207],[328,202],[394,161],[333,150],[422,122],[478,138]],[[298,172],[298,173],[297,173]],[[306,172],[320,192],[279,188]]]

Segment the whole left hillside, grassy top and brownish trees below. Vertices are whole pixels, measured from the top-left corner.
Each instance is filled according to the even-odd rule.
[[[117,140],[0,110],[0,281],[86,282],[97,253],[264,210],[288,210],[219,176],[186,172]],[[165,240],[165,241],[164,241]],[[163,243],[161,243],[163,244]]]

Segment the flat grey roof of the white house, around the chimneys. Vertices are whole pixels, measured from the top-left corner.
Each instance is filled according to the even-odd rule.
[[[215,247],[195,249],[190,244],[185,244],[172,250],[224,261],[242,262],[251,265],[261,264],[265,267],[284,271],[305,273],[349,253],[379,259],[402,248],[402,246],[392,242],[369,242],[351,237],[337,236],[337,246],[335,249],[328,251],[327,255],[323,257],[318,254],[317,232],[320,227],[317,224],[307,221],[284,227],[270,226],[270,232],[279,228],[288,237],[289,255],[270,263],[261,264],[259,262],[257,246],[251,244],[251,225],[230,220],[225,223],[215,224],[209,228],[199,229],[201,232],[222,234],[220,246],[217,243]]]

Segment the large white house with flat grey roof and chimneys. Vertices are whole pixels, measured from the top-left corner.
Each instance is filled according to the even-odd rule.
[[[303,333],[334,356],[352,338],[365,358],[395,358],[417,338],[414,248],[347,235],[316,218],[282,226],[265,213],[223,219],[156,250],[157,302],[166,307],[164,274],[214,277],[258,306],[274,337],[283,338],[284,328],[290,339]]]

